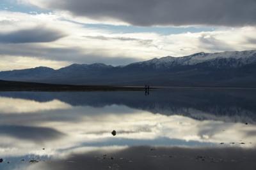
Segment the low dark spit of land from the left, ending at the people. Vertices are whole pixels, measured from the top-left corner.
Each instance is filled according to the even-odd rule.
[[[0,91],[75,92],[75,91],[140,91],[143,87],[114,87],[93,85],[56,85],[0,80]]]

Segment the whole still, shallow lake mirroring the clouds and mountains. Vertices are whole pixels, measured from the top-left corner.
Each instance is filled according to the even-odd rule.
[[[141,157],[207,161],[205,148],[220,150],[215,163],[246,162],[225,150],[256,155],[256,90],[0,92],[0,169],[131,169]]]

